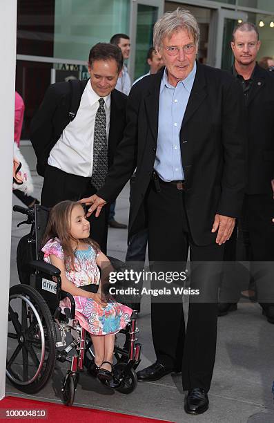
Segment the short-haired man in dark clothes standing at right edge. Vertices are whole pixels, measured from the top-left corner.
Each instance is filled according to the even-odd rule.
[[[274,77],[256,64],[260,44],[259,32],[253,23],[239,23],[233,30],[231,48],[235,62],[232,71],[244,91],[248,137],[247,185],[239,228],[244,227],[248,234],[257,299],[266,319],[274,323],[271,288],[271,263],[274,261]],[[235,242],[229,246],[230,249],[233,247],[236,248]],[[224,279],[219,315],[237,309],[240,287],[235,284],[233,292],[231,288]]]

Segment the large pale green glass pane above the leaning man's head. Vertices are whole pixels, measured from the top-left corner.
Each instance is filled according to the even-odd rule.
[[[54,57],[87,60],[90,48],[128,34],[129,0],[55,0]]]

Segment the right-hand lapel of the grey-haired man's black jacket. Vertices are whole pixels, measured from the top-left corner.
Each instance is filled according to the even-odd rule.
[[[200,104],[206,98],[206,80],[204,77],[204,69],[199,63],[197,63],[196,75],[193,83],[193,87],[189,96],[188,104],[186,106],[186,112],[184,113],[184,119],[182,127],[188,122],[193,113],[198,109]]]

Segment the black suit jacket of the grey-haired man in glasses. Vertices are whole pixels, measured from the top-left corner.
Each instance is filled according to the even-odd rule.
[[[105,200],[113,200],[137,167],[130,234],[145,224],[144,198],[155,162],[162,75],[163,72],[144,77],[131,89],[124,139],[106,185],[97,193]],[[245,186],[244,128],[244,95],[235,78],[197,63],[180,132],[186,212],[197,245],[215,242],[216,234],[211,233],[211,228],[216,213],[237,217],[241,212]]]

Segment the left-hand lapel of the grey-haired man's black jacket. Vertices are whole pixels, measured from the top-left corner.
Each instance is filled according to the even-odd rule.
[[[158,137],[159,95],[163,73],[164,70],[155,75],[154,83],[144,100],[148,124],[153,134],[155,144],[157,144]]]

